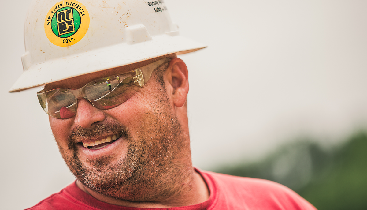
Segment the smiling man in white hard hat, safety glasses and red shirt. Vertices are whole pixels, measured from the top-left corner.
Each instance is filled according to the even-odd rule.
[[[192,167],[188,69],[176,55],[205,46],[178,35],[163,1],[34,8],[11,92],[45,84],[37,97],[77,180],[30,209],[315,209],[274,182]]]

